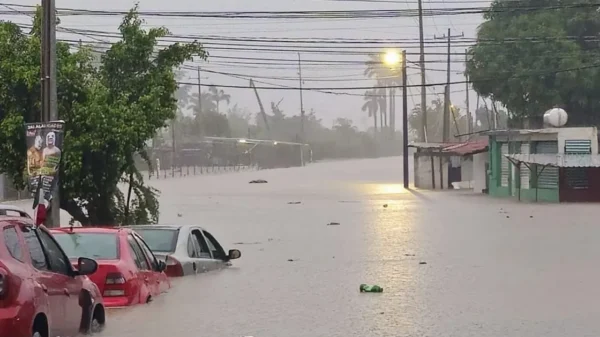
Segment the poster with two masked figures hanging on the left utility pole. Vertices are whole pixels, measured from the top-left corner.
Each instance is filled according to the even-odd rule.
[[[27,123],[27,163],[25,175],[32,194],[42,192],[44,199],[50,200],[54,181],[62,158],[64,121]],[[38,185],[41,183],[41,186]],[[33,195],[35,199],[39,195]]]

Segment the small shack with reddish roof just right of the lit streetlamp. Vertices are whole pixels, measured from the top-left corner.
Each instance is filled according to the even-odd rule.
[[[462,143],[411,143],[408,146],[416,149],[413,156],[416,188],[485,190],[486,138]]]

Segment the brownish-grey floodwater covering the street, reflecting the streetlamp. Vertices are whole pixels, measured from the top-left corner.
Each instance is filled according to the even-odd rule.
[[[100,336],[600,335],[600,207],[408,192],[401,167],[153,180],[161,222],[201,224],[242,258],[111,310]],[[361,294],[361,283],[385,291]]]

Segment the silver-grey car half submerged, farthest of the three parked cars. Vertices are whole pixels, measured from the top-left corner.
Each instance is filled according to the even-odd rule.
[[[141,225],[131,226],[152,252],[167,264],[169,276],[185,276],[224,268],[242,253],[231,249],[227,254],[207,230],[199,226]]]

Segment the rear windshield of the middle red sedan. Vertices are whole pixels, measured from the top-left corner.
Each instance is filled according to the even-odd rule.
[[[95,260],[119,258],[117,235],[113,233],[54,233],[56,241],[71,259],[87,257]]]

